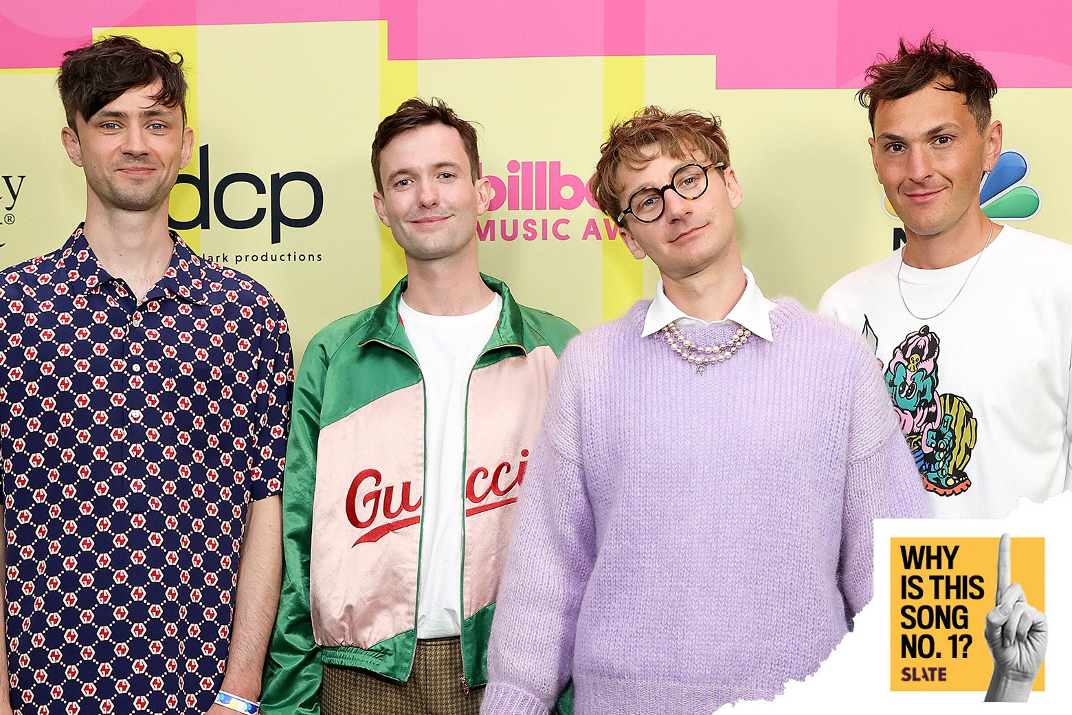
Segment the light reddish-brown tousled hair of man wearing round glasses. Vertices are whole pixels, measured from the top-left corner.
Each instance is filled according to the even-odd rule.
[[[724,168],[730,165],[730,148],[717,117],[697,111],[667,114],[660,107],[644,107],[630,119],[613,124],[599,148],[599,162],[590,185],[604,213],[616,218],[623,208],[619,192],[624,187],[617,180],[617,168],[622,164],[643,166],[655,158],[644,151],[653,145],[670,157],[684,159],[699,151],[710,162],[723,162]]]

